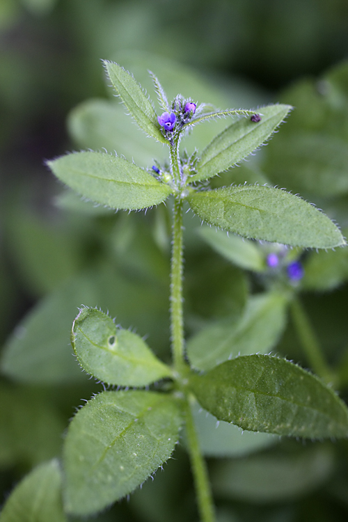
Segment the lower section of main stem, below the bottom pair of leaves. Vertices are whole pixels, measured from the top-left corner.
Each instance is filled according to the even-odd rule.
[[[214,522],[214,503],[212,498],[212,490],[210,489],[209,477],[205,459],[202,457],[196,427],[194,425],[191,406],[189,399],[186,401],[186,432],[187,441],[189,443],[189,455],[191,460],[191,468],[193,480],[196,487],[198,511],[202,522]]]

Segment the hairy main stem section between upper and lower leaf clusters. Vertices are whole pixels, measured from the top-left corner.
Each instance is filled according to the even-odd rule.
[[[184,365],[184,319],[182,311],[182,199],[175,196],[173,217],[173,246],[171,258],[171,340],[173,363],[180,372]]]

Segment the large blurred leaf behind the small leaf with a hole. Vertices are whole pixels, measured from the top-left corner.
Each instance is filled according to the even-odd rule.
[[[125,328],[136,325],[140,335],[149,334],[157,351],[166,349],[167,291],[153,280],[144,282],[102,265],[68,280],[33,307],[6,342],[2,372],[26,383],[86,380],[69,342],[71,325],[82,303],[109,310]]]

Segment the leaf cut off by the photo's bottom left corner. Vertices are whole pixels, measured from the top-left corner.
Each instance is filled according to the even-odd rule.
[[[19,482],[1,512],[1,522],[66,522],[58,461],[40,464]]]

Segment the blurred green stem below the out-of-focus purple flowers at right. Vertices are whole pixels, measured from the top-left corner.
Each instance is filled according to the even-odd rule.
[[[294,297],[290,309],[297,335],[301,341],[303,351],[308,358],[308,362],[319,377],[322,377],[322,379],[327,383],[332,383],[333,372],[331,372],[329,365],[327,365],[325,361],[317,335],[315,335],[315,331],[310,324],[306,310],[303,308],[299,298]]]

